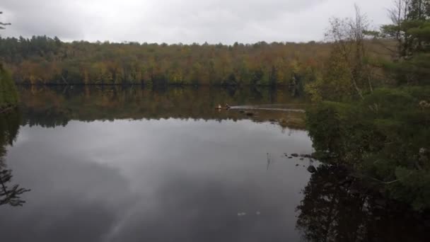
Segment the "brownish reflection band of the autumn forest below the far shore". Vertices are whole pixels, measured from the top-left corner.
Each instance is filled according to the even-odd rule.
[[[132,86],[76,86],[74,88],[21,87],[23,124],[55,127],[69,120],[114,119],[203,119],[242,120],[249,117],[237,110],[214,109],[224,103],[252,105],[264,103],[303,103],[282,90],[269,88],[141,88]],[[274,95],[274,92],[279,92]],[[303,115],[289,113],[288,116]],[[256,121],[287,119],[284,112],[258,111]]]

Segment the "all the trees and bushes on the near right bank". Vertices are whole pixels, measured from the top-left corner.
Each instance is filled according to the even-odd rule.
[[[366,31],[366,18],[333,19],[335,52],[325,78],[307,88],[318,105],[307,125],[320,161],[347,166],[386,197],[430,209],[430,1],[396,1],[393,23]],[[390,61],[373,67],[364,34],[389,38]],[[378,88],[375,88],[375,83]],[[333,92],[333,88],[343,90]]]

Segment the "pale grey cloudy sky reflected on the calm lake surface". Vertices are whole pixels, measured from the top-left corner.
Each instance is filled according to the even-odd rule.
[[[310,175],[283,152],[310,145],[306,132],[250,120],[25,125],[7,159],[32,192],[23,208],[0,209],[0,233],[6,241],[298,241],[295,207]],[[276,159],[269,170],[267,153]]]

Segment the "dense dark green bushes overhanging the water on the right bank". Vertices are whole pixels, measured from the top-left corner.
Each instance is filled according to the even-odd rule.
[[[307,112],[321,161],[351,166],[389,197],[430,209],[430,87],[381,88]]]

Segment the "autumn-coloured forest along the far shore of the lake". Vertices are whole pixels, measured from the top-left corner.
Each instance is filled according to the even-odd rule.
[[[386,40],[384,40],[386,41]],[[366,39],[371,50],[380,40]],[[304,93],[325,73],[331,42],[166,45],[0,38],[0,57],[17,83],[146,86],[289,86]],[[388,59],[386,51],[373,57]]]

